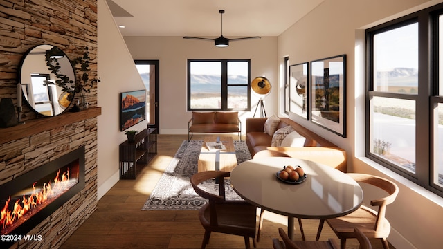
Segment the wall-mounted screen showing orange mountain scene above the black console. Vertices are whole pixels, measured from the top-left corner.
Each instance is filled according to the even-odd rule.
[[[120,131],[146,119],[146,90],[120,93]]]

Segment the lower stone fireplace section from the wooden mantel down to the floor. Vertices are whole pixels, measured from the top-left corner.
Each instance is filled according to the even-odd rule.
[[[10,187],[32,188],[33,183],[42,178],[43,183],[53,183],[58,169],[58,178],[62,178],[67,168],[69,178],[78,178],[75,180],[78,183],[69,194],[60,197],[60,202],[51,204],[38,214],[38,219],[33,218],[12,232],[22,235],[20,241],[12,245],[1,243],[0,248],[59,248],[96,210],[96,117],[100,113],[100,107],[90,107],[78,113],[28,120],[25,124],[0,129],[0,200],[15,193]],[[3,202],[0,201],[0,211]],[[25,240],[23,235],[37,239]]]

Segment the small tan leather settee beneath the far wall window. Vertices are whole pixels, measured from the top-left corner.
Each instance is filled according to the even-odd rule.
[[[237,111],[221,112],[192,112],[192,118],[188,122],[188,141],[194,133],[238,133],[242,139],[242,122],[238,118]]]

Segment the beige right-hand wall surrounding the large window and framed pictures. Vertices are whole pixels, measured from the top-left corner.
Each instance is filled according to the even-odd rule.
[[[364,158],[364,29],[438,2],[326,0],[278,39],[278,55],[289,55],[291,64],[347,55],[347,138],[291,118],[346,149],[348,171],[376,174],[399,185],[399,196],[387,211],[389,241],[396,248],[441,248],[443,199]],[[368,197],[365,203],[369,205]]]

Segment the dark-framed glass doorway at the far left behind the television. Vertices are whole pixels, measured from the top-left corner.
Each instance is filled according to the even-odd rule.
[[[134,59],[138,73],[147,92],[147,127],[156,128],[159,133],[159,60]]]

